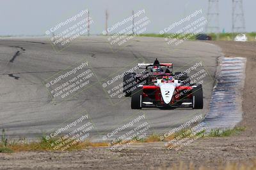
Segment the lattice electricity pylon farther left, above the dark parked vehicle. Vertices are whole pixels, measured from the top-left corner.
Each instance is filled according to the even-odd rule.
[[[219,23],[219,0],[209,0],[208,1],[208,13],[207,13],[207,25],[206,31],[211,33],[220,32],[220,23]]]

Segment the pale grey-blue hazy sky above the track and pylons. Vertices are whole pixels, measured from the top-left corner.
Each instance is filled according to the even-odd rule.
[[[244,0],[246,32],[256,32],[256,1]],[[52,26],[67,20],[81,10],[88,9],[93,19],[91,34],[105,29],[105,11],[108,9],[108,25],[131,16],[131,11],[145,9],[150,19],[147,33],[159,33],[164,27],[202,9],[207,17],[207,0],[1,0],[0,35],[40,36]],[[220,31],[232,31],[232,0],[220,1]]]

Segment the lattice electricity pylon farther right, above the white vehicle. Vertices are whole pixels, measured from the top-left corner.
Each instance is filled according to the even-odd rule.
[[[245,32],[243,0],[232,0],[232,32]]]

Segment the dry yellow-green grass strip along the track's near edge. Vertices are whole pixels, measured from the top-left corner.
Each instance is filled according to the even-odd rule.
[[[238,132],[244,131],[244,128],[235,128],[232,130],[227,131],[212,131],[211,137],[221,137],[221,136],[231,136],[233,134],[237,134]],[[200,132],[201,133],[201,132]],[[160,139],[160,136],[158,134],[152,134],[148,136],[147,138],[138,139],[138,138],[132,138],[132,143],[151,143],[151,142],[158,142],[158,141],[171,141],[172,139],[175,139],[179,136],[180,139],[186,138],[191,134],[190,129],[184,129],[182,131],[176,132],[175,134],[172,134],[168,136],[168,138],[164,138],[163,140]],[[196,136],[197,134],[195,134]],[[181,136],[181,137],[180,137]],[[20,139],[18,141],[12,141],[12,143],[8,142],[7,139],[4,136],[4,130],[2,131],[2,140],[0,142],[0,153],[12,153],[12,152],[25,152],[25,151],[72,151],[72,150],[83,150],[87,147],[100,147],[100,146],[108,146],[108,142],[90,142],[90,141],[76,141],[76,139],[69,141],[64,146],[61,146],[60,148],[55,148],[56,143],[59,144],[58,140],[60,138],[51,138],[49,140],[45,139],[45,137],[40,138],[38,142],[28,142],[25,139]],[[118,143],[124,145],[125,143],[130,143],[131,141],[118,141],[116,143],[113,143],[113,145],[118,145]],[[71,143],[73,143],[70,145]],[[52,145],[54,144],[54,145]],[[68,145],[68,148],[63,149],[65,146]],[[172,144],[166,146],[167,148],[171,147]],[[173,146],[173,148],[177,147],[176,145]]]

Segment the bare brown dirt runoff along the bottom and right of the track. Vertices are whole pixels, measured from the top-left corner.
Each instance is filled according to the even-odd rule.
[[[166,150],[164,143],[132,145],[122,152],[108,148],[87,148],[79,152],[0,153],[0,169],[165,169],[180,161],[196,167],[217,167],[256,158],[256,42],[211,41],[225,56],[246,57],[246,82],[243,94],[244,118],[239,126],[246,131],[238,136],[202,138],[178,152]]]

